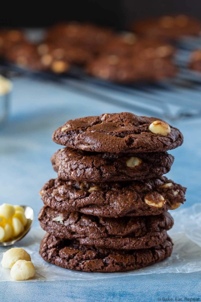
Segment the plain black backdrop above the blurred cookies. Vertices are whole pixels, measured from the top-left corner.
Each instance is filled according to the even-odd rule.
[[[27,4],[26,4],[27,3]],[[57,21],[91,21],[124,29],[136,18],[185,13],[201,19],[200,0],[71,0],[1,4],[0,26],[46,27]]]

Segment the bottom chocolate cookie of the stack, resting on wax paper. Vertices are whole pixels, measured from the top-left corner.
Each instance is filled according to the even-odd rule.
[[[173,243],[168,237],[162,244],[139,250],[101,249],[81,245],[76,240],[61,240],[46,234],[40,245],[42,258],[75,271],[129,271],[157,263],[171,255]]]

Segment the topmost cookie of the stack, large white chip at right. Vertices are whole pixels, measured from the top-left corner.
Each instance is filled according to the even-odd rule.
[[[69,120],[52,135],[55,143],[95,152],[159,152],[183,143],[182,133],[156,117],[129,112]]]

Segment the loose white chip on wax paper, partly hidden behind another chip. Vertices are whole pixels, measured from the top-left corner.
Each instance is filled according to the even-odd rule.
[[[5,268],[11,268],[17,260],[31,261],[31,257],[24,249],[8,249],[8,251],[6,251],[3,255],[2,266]]]

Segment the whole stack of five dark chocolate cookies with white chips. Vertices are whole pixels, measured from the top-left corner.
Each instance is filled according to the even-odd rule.
[[[66,147],[51,159],[58,178],[40,191],[43,259],[111,272],[171,255],[167,211],[185,201],[186,188],[162,175],[174,160],[166,151],[183,142],[178,129],[123,112],[69,120],[53,140]]]

